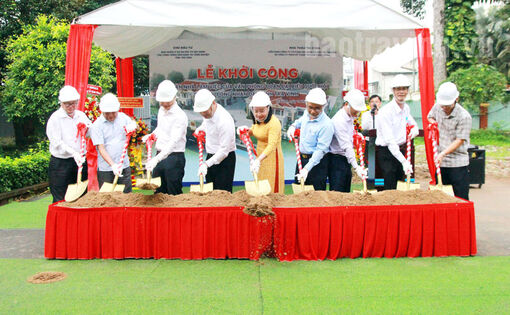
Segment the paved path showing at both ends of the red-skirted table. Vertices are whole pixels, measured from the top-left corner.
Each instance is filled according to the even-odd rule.
[[[477,186],[478,187],[478,186]],[[479,256],[510,255],[510,178],[470,190]],[[43,258],[43,229],[0,230],[0,258]]]

